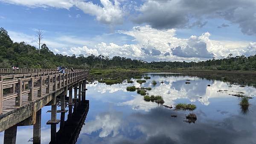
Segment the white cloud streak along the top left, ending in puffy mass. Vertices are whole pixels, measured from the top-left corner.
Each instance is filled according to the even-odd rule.
[[[91,1],[81,0],[0,0],[0,2],[23,5],[29,7],[55,7],[62,9],[70,9],[73,6],[81,9],[85,14],[90,14],[96,17],[96,20],[105,24],[122,24],[125,10],[120,6],[119,1],[123,0],[100,0],[99,4],[94,4]],[[70,17],[70,15],[69,15]],[[81,17],[77,14],[76,17]]]

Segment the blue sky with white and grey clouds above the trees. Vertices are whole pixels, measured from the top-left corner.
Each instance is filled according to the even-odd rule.
[[[14,42],[55,54],[198,61],[256,54],[256,0],[0,0]]]

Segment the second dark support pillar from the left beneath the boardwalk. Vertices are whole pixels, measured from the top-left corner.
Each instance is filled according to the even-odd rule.
[[[36,122],[33,125],[33,144],[41,144],[41,109],[36,112]]]

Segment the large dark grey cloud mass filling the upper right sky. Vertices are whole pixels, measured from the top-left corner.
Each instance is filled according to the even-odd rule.
[[[207,23],[202,19],[222,18],[238,24],[244,34],[255,35],[255,7],[255,0],[146,0],[134,22],[172,29],[202,27]]]

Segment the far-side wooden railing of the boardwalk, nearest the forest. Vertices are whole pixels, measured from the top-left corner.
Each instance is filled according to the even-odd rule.
[[[38,73],[38,72],[55,72],[57,69],[0,69],[0,73]],[[71,72],[71,69],[66,69]],[[77,70],[76,70],[77,71]]]

